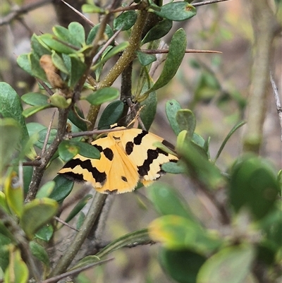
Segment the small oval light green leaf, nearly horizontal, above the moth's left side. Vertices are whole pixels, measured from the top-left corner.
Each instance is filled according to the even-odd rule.
[[[85,97],[85,100],[92,105],[100,105],[104,102],[115,100],[118,96],[119,92],[116,88],[102,88]]]

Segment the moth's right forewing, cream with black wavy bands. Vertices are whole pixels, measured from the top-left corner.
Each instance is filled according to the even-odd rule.
[[[149,186],[152,181],[159,179],[165,173],[161,169],[161,164],[178,160],[176,156],[154,146],[153,144],[157,141],[163,143],[164,139],[138,128],[124,131],[121,137],[125,152],[136,164],[140,180],[145,186]],[[131,150],[128,150],[129,148]]]

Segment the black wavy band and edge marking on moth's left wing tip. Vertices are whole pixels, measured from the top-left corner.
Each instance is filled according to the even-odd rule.
[[[95,179],[96,182],[101,183],[102,185],[105,183],[106,173],[100,172],[96,167],[92,167],[90,159],[86,159],[85,161],[82,161],[80,159],[72,159],[69,162],[67,162],[63,168],[73,169],[76,166],[80,166],[82,169],[86,169],[87,171],[90,171],[90,173],[92,173],[92,176],[93,176],[93,178]],[[74,174],[73,172],[65,172],[65,173],[61,173],[61,174],[65,174],[66,176],[82,175],[82,174]],[[80,177],[80,179],[81,179],[81,177]],[[82,175],[82,180],[84,180],[83,175]]]

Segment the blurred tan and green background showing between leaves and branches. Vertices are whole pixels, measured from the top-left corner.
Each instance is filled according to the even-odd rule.
[[[68,8],[64,6],[66,15],[60,12],[59,1],[1,1],[0,26],[0,78],[12,85],[19,95],[36,91],[34,79],[22,71],[16,64],[19,54],[30,52],[30,36],[32,33],[40,35],[51,32],[54,25],[62,25],[68,16]],[[82,1],[74,1],[81,4]],[[104,1],[102,2],[104,5]],[[254,31],[250,16],[250,3],[243,0],[232,0],[219,4],[210,4],[197,8],[197,15],[186,22],[174,23],[173,30],[165,37],[170,42],[173,32],[182,27],[188,38],[188,49],[216,50],[222,54],[186,54],[176,77],[165,88],[157,91],[157,116],[150,131],[156,133],[175,144],[176,137],[169,127],[165,114],[165,104],[175,99],[183,108],[192,109],[197,119],[196,133],[203,138],[211,138],[211,159],[219,150],[223,139],[233,126],[246,117],[246,105],[250,91],[250,75],[252,53],[254,52]],[[20,18],[11,20],[11,7],[16,9],[22,5],[42,6],[32,9]],[[269,1],[274,7],[274,1]],[[71,15],[71,17],[74,17]],[[89,15],[93,23],[98,23],[96,15]],[[78,20],[75,18],[74,20]],[[89,28],[89,27],[87,27]],[[127,35],[118,37],[122,42]],[[282,44],[281,37],[274,41],[274,52],[271,54],[271,70],[281,95],[282,75]],[[113,62],[111,62],[113,63]],[[108,64],[105,68],[111,68]],[[134,78],[137,78],[133,76]],[[154,79],[158,76],[158,71]],[[119,80],[115,85],[119,88]],[[137,80],[133,79],[133,89]],[[134,92],[134,90],[133,90]],[[25,107],[25,106],[24,106]],[[87,114],[87,104],[81,104]],[[271,88],[266,105],[266,120],[264,123],[264,143],[262,156],[267,157],[276,170],[282,167],[281,127],[279,126],[276,104]],[[32,116],[28,121],[38,121],[48,126],[52,111],[49,109]],[[54,124],[56,126],[56,124]],[[244,126],[236,131],[228,140],[221,157],[216,164],[222,171],[226,171],[235,157],[242,152],[241,138]],[[63,164],[57,161],[57,169]],[[49,181],[56,176],[56,171],[47,170],[44,180]],[[161,181],[174,186],[185,200],[188,201],[195,215],[212,227],[211,215],[204,209],[200,195],[192,188],[185,176],[166,175]],[[75,185],[78,191],[80,185]],[[147,188],[149,189],[149,188]],[[130,231],[145,228],[155,217],[152,205],[146,198],[145,188],[135,193],[111,196],[111,209],[106,221],[103,241],[111,241]],[[63,216],[62,216],[63,218]],[[61,233],[68,233],[63,228]],[[61,238],[61,236],[59,236]],[[114,261],[102,267],[96,267],[80,275],[78,282],[171,282],[164,275],[157,261],[158,245],[137,246],[124,248],[113,253]]]

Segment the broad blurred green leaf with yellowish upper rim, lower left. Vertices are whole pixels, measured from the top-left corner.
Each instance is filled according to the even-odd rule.
[[[51,198],[36,198],[30,203],[26,203],[20,218],[20,226],[27,237],[32,239],[35,232],[56,215],[58,208],[56,200],[51,200]]]

